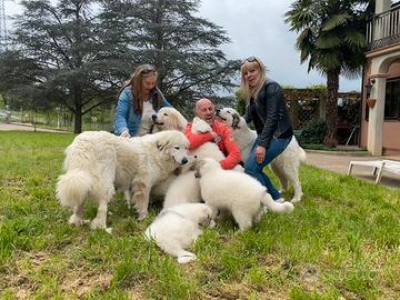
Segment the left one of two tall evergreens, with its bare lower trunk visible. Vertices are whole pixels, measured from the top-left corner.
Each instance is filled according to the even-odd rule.
[[[36,64],[31,84],[44,90],[48,101],[57,100],[73,112],[74,132],[81,132],[84,113],[110,101],[117,81],[112,70],[103,68],[103,53],[111,44],[99,39],[96,2],[24,0],[24,12],[16,18],[12,46]]]

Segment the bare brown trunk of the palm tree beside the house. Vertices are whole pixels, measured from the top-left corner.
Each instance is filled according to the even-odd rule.
[[[340,70],[332,70],[327,73],[327,126],[328,131],[323,143],[329,147],[338,144],[337,123],[338,123],[338,90]]]

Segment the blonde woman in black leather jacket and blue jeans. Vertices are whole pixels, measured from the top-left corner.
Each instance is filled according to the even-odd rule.
[[[284,151],[293,136],[283,90],[279,83],[267,79],[266,67],[258,58],[246,59],[240,71],[240,87],[248,104],[244,119],[254,123],[258,134],[244,162],[244,171],[260,181],[274,201],[283,202],[278,189],[262,171]]]

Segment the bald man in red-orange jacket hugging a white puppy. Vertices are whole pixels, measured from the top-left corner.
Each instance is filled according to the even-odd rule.
[[[212,131],[192,133],[192,124],[189,123],[184,130],[184,134],[190,142],[189,150],[197,149],[206,142],[216,142],[227,157],[220,161],[222,169],[229,170],[234,168],[241,161],[239,147],[233,140],[231,130],[226,124],[216,120],[214,106],[211,100],[202,98],[197,101],[196,116],[209,123]]]

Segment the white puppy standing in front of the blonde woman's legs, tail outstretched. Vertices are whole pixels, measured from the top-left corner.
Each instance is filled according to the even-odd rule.
[[[217,216],[218,210],[231,212],[241,231],[260,221],[262,206],[278,213],[293,210],[290,202],[274,202],[266,188],[254,178],[241,172],[222,170],[212,159],[198,161],[196,176],[200,179],[202,199],[211,207],[213,216]]]

